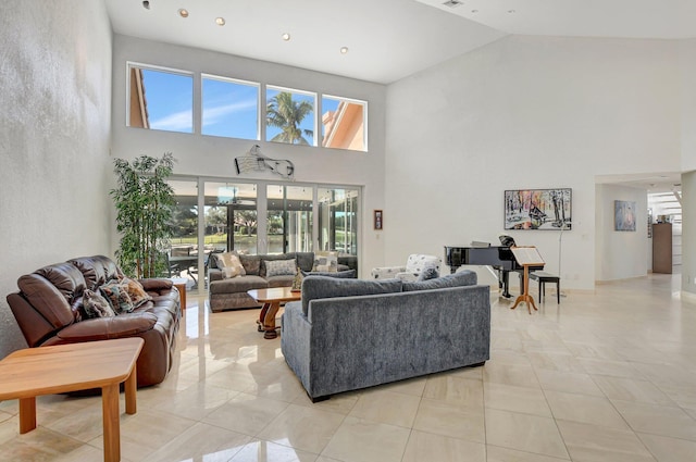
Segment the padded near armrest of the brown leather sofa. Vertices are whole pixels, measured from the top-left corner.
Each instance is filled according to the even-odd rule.
[[[58,333],[58,338],[65,342],[79,342],[135,337],[152,329],[156,324],[157,316],[150,312],[96,317],[71,324]]]

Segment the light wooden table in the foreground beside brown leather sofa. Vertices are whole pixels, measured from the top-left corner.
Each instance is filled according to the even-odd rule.
[[[20,433],[36,428],[36,397],[101,388],[104,461],[121,460],[119,384],[126,413],[136,413],[139,337],[17,350],[0,361],[0,401],[20,400]]]

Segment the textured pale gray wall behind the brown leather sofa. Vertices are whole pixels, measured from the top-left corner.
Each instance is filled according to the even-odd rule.
[[[16,279],[108,253],[111,26],[102,2],[4,1],[0,14],[0,358],[25,347]]]

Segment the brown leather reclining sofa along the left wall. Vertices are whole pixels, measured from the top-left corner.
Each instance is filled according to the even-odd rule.
[[[169,279],[139,279],[152,297],[130,313],[86,319],[85,289],[95,290],[122,276],[108,257],[95,255],[44,266],[17,280],[18,292],[8,303],[29,347],[140,337],[145,345],[137,361],[138,386],[166,377],[176,348],[179,297]]]

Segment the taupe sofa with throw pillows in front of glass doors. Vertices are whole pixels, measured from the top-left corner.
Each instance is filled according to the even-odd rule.
[[[210,309],[213,312],[223,310],[238,310],[247,308],[260,308],[261,303],[249,297],[247,290],[265,289],[270,287],[287,287],[293,285],[295,272],[286,272],[279,275],[269,275],[266,262],[281,262],[295,260],[296,267],[309,273],[315,266],[314,252],[289,252],[258,255],[238,255],[244,274],[234,277],[225,277],[222,270],[221,254],[212,253],[208,262],[208,294]],[[357,277],[358,260],[356,257],[338,257],[337,272],[346,276]]]

